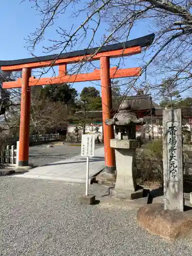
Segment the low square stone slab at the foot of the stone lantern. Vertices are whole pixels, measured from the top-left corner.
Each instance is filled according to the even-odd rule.
[[[143,197],[143,190],[129,191],[123,189],[110,189],[110,195],[116,199],[134,200]]]

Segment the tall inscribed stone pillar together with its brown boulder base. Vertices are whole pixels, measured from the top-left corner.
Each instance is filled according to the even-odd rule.
[[[192,210],[184,211],[182,111],[163,111],[164,204],[147,204],[137,212],[138,223],[153,234],[174,240],[192,229]]]

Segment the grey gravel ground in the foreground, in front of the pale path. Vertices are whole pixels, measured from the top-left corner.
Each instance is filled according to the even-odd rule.
[[[82,205],[83,184],[1,177],[1,256],[191,255],[192,239],[167,242],[137,225],[136,210]],[[94,194],[106,187],[91,185]]]

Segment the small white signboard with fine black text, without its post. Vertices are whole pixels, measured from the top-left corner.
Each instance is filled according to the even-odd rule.
[[[81,156],[94,157],[95,155],[95,136],[82,135],[81,138]]]

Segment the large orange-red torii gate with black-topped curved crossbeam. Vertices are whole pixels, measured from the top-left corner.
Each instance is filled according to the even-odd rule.
[[[150,34],[120,44],[106,46],[101,49],[92,48],[63,53],[59,56],[49,55],[28,59],[0,61],[0,67],[3,71],[22,71],[22,79],[3,83],[4,89],[22,88],[18,165],[21,167],[27,167],[29,165],[30,87],[54,83],[101,80],[105,170],[107,173],[114,173],[115,155],[113,148],[110,147],[110,139],[114,137],[114,131],[113,126],[105,125],[104,122],[105,119],[112,118],[111,78],[138,76],[140,75],[141,68],[110,68],[110,58],[141,53],[142,47],[150,46],[154,37],[154,34]],[[100,70],[86,74],[67,74],[68,63],[93,60],[100,60]],[[40,79],[31,77],[32,69],[51,66],[58,66],[59,74],[57,77]]]

